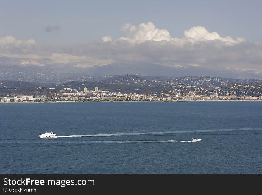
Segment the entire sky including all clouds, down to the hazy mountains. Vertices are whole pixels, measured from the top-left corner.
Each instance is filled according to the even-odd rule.
[[[262,79],[261,7],[240,0],[2,0],[0,57],[38,66],[48,58],[82,68],[126,62],[230,70]]]

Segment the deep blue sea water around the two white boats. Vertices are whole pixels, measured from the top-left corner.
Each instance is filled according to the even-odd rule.
[[[262,102],[2,103],[0,133],[1,174],[262,173]]]

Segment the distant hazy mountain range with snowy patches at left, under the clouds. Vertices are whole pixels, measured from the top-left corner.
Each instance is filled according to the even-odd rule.
[[[4,57],[0,57],[3,61]],[[8,62],[7,62],[8,61]],[[23,64],[21,64],[21,62]],[[28,62],[28,64],[26,64]],[[29,64],[29,62],[34,64]],[[48,62],[45,64],[45,62]],[[52,64],[49,59],[6,59],[0,64],[0,80],[28,81],[41,83],[63,83],[73,80],[95,81],[80,78],[84,75],[105,76],[139,74],[146,76],[213,76],[235,79],[262,79],[262,73],[251,70],[220,69],[212,70],[202,67],[180,66],[159,63],[111,62],[109,64],[83,65],[84,62]],[[74,77],[79,79],[74,79]]]

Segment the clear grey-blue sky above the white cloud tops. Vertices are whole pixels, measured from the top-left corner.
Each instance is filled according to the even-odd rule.
[[[262,1],[1,1],[0,37],[70,45],[121,37],[124,23],[153,22],[181,38],[192,26],[262,42]],[[46,32],[48,25],[60,30]]]

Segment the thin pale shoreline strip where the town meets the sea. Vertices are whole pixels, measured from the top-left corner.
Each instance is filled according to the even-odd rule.
[[[193,101],[52,101],[52,102],[0,102],[5,103],[76,103],[76,102],[262,102],[262,100],[193,100]]]

